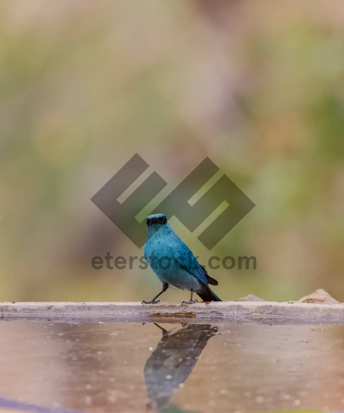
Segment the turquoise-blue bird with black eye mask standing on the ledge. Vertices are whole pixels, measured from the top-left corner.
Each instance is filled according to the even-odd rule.
[[[186,244],[172,230],[164,214],[147,216],[146,224],[148,236],[144,246],[144,256],[152,270],[163,283],[163,290],[151,301],[142,301],[142,304],[157,304],[156,299],[168,287],[191,291],[190,301],[181,304],[194,304],[192,299],[196,292],[203,301],[222,301],[217,297],[209,284],[218,285],[214,278],[196,260]]]

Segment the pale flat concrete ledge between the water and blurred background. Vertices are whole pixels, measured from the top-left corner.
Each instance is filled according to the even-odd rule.
[[[200,302],[191,305],[139,302],[0,302],[0,317],[11,316],[173,316],[178,318],[226,318],[249,315],[343,318],[342,304],[310,304],[268,301]]]

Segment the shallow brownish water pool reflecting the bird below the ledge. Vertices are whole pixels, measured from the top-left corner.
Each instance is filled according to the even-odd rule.
[[[14,320],[0,348],[5,410],[344,410],[343,325]]]

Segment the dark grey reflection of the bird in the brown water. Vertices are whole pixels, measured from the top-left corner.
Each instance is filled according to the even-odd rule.
[[[173,389],[190,375],[207,341],[217,333],[208,324],[189,324],[175,331],[165,330],[156,349],[144,366],[147,386],[147,411],[160,412],[170,401]]]

